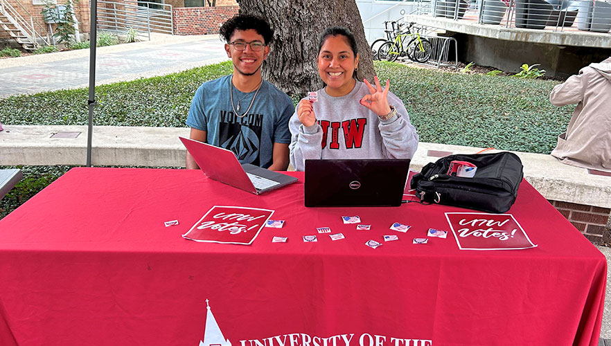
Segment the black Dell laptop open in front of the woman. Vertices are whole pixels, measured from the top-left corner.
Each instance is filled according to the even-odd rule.
[[[407,174],[409,159],[305,160],[305,206],[400,206]]]

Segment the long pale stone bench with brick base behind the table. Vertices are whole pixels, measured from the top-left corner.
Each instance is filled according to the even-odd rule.
[[[86,126],[3,126],[0,165],[85,165],[87,161]],[[94,127],[91,163],[184,167],[185,149],[178,137],[188,134],[186,127]],[[480,150],[420,143],[411,168],[419,171],[441,156]],[[611,236],[605,230],[611,212],[611,174],[591,174],[546,154],[515,154],[522,160],[529,183],[588,239],[596,244],[606,242]]]

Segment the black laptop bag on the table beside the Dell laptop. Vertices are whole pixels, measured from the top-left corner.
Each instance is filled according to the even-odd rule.
[[[452,161],[477,166],[475,176],[448,175]],[[411,179],[411,188],[422,202],[439,203],[486,212],[506,212],[511,208],[522,181],[522,161],[511,152],[457,154],[425,165]]]

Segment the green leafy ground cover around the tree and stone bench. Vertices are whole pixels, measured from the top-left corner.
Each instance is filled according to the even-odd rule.
[[[549,93],[560,82],[450,73],[374,62],[380,80],[405,103],[420,141],[549,154],[574,106],[554,107]],[[231,73],[231,62],[162,77],[96,86],[95,125],[184,127],[202,82]],[[87,89],[49,91],[0,100],[7,125],[87,125]],[[293,95],[294,100],[299,95]],[[20,167],[24,179],[0,200],[8,214],[67,166]]]

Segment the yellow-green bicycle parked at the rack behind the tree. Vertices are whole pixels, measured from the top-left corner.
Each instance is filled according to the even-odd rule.
[[[414,27],[414,22],[410,23],[405,29],[405,32],[399,33],[395,39],[389,40],[382,44],[378,49],[378,60],[387,60],[393,62],[398,59],[399,56],[406,56],[409,60],[414,62],[427,62],[432,53],[433,45],[428,39],[420,37],[420,33],[417,31],[411,33],[411,28]],[[412,38],[407,45],[407,37]]]

